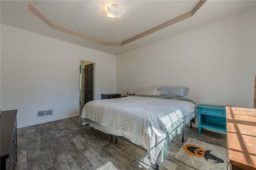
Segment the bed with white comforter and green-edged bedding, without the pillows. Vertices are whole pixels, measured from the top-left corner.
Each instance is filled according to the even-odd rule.
[[[84,106],[80,121],[143,146],[148,151],[152,167],[157,167],[168,155],[172,137],[179,134],[196,113],[196,104],[191,99],[163,96],[159,92],[151,96],[137,93],[90,101]]]

